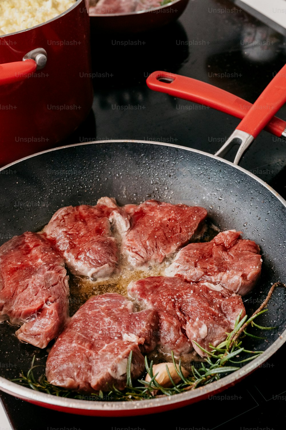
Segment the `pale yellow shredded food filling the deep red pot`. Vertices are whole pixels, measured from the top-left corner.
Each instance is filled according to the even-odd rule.
[[[0,0],[0,35],[42,24],[69,9],[76,0]]]

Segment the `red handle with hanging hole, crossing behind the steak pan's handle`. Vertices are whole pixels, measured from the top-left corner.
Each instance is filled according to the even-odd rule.
[[[197,79],[174,73],[153,72],[146,79],[146,83],[154,91],[204,104],[241,119],[252,107],[251,103],[230,92]],[[286,121],[274,117],[266,125],[265,129],[278,137],[283,133],[286,135]]]

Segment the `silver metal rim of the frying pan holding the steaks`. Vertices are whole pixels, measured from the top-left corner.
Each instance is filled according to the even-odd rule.
[[[145,140],[136,140],[136,139],[118,139],[118,140],[102,140],[102,141],[91,141],[91,142],[82,142],[78,144],[70,144],[65,146],[60,146],[56,148],[51,148],[45,151],[40,151],[36,154],[31,154],[27,157],[23,157],[19,160],[16,160],[12,163],[7,164],[6,166],[3,166],[0,168],[0,171],[8,169],[11,166],[14,166],[17,163],[20,163],[24,160],[28,160],[30,158],[36,157],[38,155],[42,155],[48,152],[57,151],[60,149],[70,148],[70,147],[77,147],[82,145],[89,145],[89,144],[98,144],[98,143],[104,143],[104,144],[110,144],[110,143],[144,143],[144,144],[154,144],[154,145],[160,145],[160,146],[170,146],[175,147],[191,152],[195,152],[197,154],[201,154],[207,157],[214,158],[216,160],[219,160],[220,162],[223,162],[229,166],[235,167],[236,169],[240,170],[244,174],[247,174],[260,184],[262,184],[265,188],[268,189],[272,194],[274,194],[274,197],[276,197],[280,202],[283,204],[283,206],[286,207],[286,200],[283,199],[283,197],[280,196],[272,187],[270,187],[266,182],[262,181],[262,179],[258,178],[253,173],[247,171],[246,169],[237,166],[233,164],[232,162],[228,160],[224,160],[221,157],[217,157],[215,155],[209,154],[204,151],[199,151],[194,148],[184,147],[182,145],[177,144],[171,144],[171,143],[165,143],[165,142],[157,142],[157,141],[145,141]],[[22,399],[36,402],[38,404],[41,404],[42,406],[45,405],[54,405],[58,407],[62,407],[63,409],[77,409],[77,410],[84,410],[84,411],[98,411],[108,414],[108,412],[113,413],[119,413],[119,412],[126,412],[129,411],[137,411],[136,415],[140,415],[142,411],[152,409],[153,412],[156,412],[156,408],[162,408],[166,406],[171,406],[176,403],[188,403],[193,401],[199,401],[200,399],[206,398],[210,393],[213,395],[214,393],[217,393],[224,388],[227,388],[231,385],[234,385],[235,382],[240,381],[245,376],[249,375],[251,372],[253,372],[255,369],[257,369],[260,365],[262,365],[267,359],[269,359],[286,341],[286,330],[282,332],[277,338],[276,341],[274,341],[273,344],[271,344],[259,357],[242,367],[241,369],[233,372],[230,375],[225,376],[224,378],[214,381],[211,384],[208,384],[204,387],[200,387],[197,390],[193,391],[187,391],[186,393],[180,393],[176,394],[174,396],[169,397],[160,397],[157,399],[150,399],[150,400],[140,400],[140,401],[132,401],[132,402],[112,402],[112,401],[94,401],[94,400],[80,400],[80,399],[69,399],[65,397],[57,397],[53,396],[51,394],[47,393],[41,393],[41,392],[35,392],[34,390],[23,387],[19,384],[16,384],[15,382],[9,381],[6,378],[0,377],[0,390],[12,394],[13,396],[18,396]],[[149,412],[152,413],[152,412]]]

